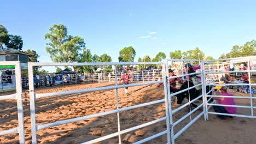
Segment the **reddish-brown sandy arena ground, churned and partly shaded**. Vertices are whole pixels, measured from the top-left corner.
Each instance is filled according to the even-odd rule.
[[[36,89],[36,93],[50,93],[69,91],[74,89],[95,88],[103,86],[112,86],[113,83],[91,83],[80,85],[66,85]],[[230,89],[231,93],[235,93]],[[1,93],[10,94],[9,93]],[[118,89],[119,107],[127,107],[153,100],[164,99],[164,88],[156,85],[129,87],[129,94],[124,94],[124,89]],[[236,92],[236,95],[248,95]],[[183,103],[186,101],[184,100]],[[196,101],[200,104],[201,101]],[[236,99],[238,105],[249,105],[247,99]],[[172,109],[179,105],[173,103]],[[97,91],[90,93],[79,93],[71,95],[62,95],[49,98],[40,98],[36,100],[36,122],[37,124],[51,123],[63,119],[86,116],[93,113],[99,113],[114,110],[117,107],[115,89],[109,91]],[[250,115],[251,109],[238,108],[238,114]],[[199,109],[201,112],[202,109]],[[211,109],[212,111],[212,109]],[[187,107],[174,113],[173,121],[186,115]],[[191,118],[198,115],[195,112]],[[255,113],[254,113],[255,115]],[[209,115],[210,120],[204,121],[199,118],[188,130],[176,139],[176,143],[255,143],[254,123],[252,118],[235,117],[220,121],[215,115]],[[30,123],[30,104],[24,102],[25,119],[25,137],[26,143],[31,143],[31,123]],[[135,127],[136,125],[147,123],[155,119],[165,117],[165,104],[155,104],[137,109],[120,112],[120,130]],[[0,101],[0,130],[7,130],[17,127],[17,109],[14,100]],[[174,127],[177,133],[184,125],[190,121],[184,119],[180,124]],[[156,133],[166,130],[166,122],[162,121],[149,127],[131,131],[121,135],[122,143],[132,143]],[[85,119],[74,123],[59,125],[37,131],[38,143],[82,143],[104,135],[112,134],[118,131],[117,114]],[[162,135],[147,143],[166,143],[167,136]],[[0,143],[19,143],[18,134],[0,136]],[[104,140],[98,143],[118,143],[118,136],[112,139]]]

